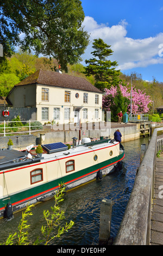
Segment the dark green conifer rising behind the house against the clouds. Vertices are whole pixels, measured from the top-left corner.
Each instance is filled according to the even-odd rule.
[[[91,52],[94,58],[85,60],[85,63],[89,63],[89,65],[85,67],[84,74],[86,76],[94,75],[95,86],[100,90],[110,88],[112,85],[116,86],[119,82],[120,70],[115,70],[117,62],[107,59],[113,52],[110,47],[101,38],[95,39],[92,46],[95,51]]]

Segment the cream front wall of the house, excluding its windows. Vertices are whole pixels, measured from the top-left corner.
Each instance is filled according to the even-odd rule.
[[[48,101],[42,101],[41,92],[42,88],[49,89],[49,98]],[[65,91],[71,93],[70,102],[65,102]],[[78,99],[76,98],[76,93],[79,94]],[[88,102],[83,102],[84,93],[88,94]],[[99,95],[99,103],[95,104],[95,95]],[[67,123],[77,123],[74,118],[74,109],[79,109],[79,119],[82,123],[86,121],[102,121],[102,94],[94,92],[85,92],[83,90],[59,88],[52,86],[42,86],[37,85],[37,94],[36,94],[36,107],[37,107],[37,120],[42,120],[42,108],[48,108],[49,116],[48,120],[54,119],[54,107],[60,108],[60,118],[55,120],[55,123],[58,124],[67,124]],[[70,108],[70,119],[64,118],[65,108]],[[87,118],[84,118],[83,109],[87,109]],[[95,108],[98,109],[99,116],[95,118]],[[47,120],[42,120],[42,124]]]

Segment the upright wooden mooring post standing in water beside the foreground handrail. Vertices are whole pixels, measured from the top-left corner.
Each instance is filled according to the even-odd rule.
[[[100,223],[99,223],[99,242],[108,243],[110,239],[112,214],[112,201],[110,199],[103,199],[101,202]]]

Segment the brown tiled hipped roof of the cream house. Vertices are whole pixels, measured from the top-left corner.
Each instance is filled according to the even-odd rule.
[[[93,86],[82,77],[60,74],[59,72],[49,70],[37,70],[15,86],[24,86],[27,84],[42,84],[46,86],[55,86],[68,89],[85,90],[88,92],[102,93],[101,90]]]

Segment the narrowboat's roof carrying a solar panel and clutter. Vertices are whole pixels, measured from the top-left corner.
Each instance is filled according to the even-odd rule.
[[[35,162],[46,162],[55,159],[64,159],[70,156],[73,157],[102,148],[112,147],[118,143],[119,142],[116,142],[115,140],[111,141],[111,139],[103,139],[100,141],[80,144],[77,145],[77,147],[71,147],[70,149],[68,149],[67,146],[65,147],[64,143],[51,143],[44,145],[45,147],[42,145],[42,157],[36,156],[35,148],[32,148],[29,152],[28,150],[18,151],[15,149],[4,149],[0,150],[0,172],[4,169],[10,169],[18,166],[21,167]],[[29,157],[28,153],[30,153],[32,157]]]

